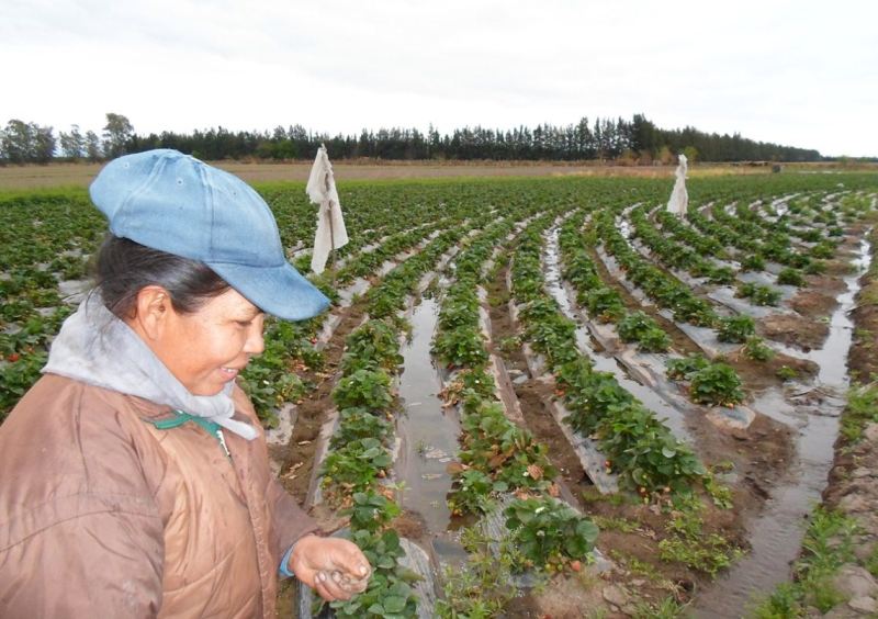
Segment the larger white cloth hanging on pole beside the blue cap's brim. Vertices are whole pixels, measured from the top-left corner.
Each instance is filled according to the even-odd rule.
[[[311,270],[322,273],[326,267],[329,251],[348,243],[348,230],[345,228],[345,217],[341,215],[333,165],[329,162],[329,156],[323,145],[317,150],[317,157],[311,168],[305,192],[313,203],[320,205],[317,211],[317,234],[314,236]]]

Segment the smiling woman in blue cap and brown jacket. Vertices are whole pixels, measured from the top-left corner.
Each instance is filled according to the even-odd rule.
[[[274,617],[279,573],[363,590],[368,561],[273,479],[235,385],[263,313],[327,305],[268,205],[173,150],[111,161],[90,193],[95,289],[0,426],[0,616]]]

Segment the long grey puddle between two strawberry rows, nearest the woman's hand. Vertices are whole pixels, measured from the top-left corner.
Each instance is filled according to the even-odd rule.
[[[439,317],[437,303],[425,299],[412,315],[412,340],[401,350],[404,368],[399,397],[405,414],[397,421],[403,438],[396,479],[405,483],[402,506],[420,514],[430,533],[444,533],[451,514],[446,495],[451,475],[446,468],[458,451],[460,427],[442,407],[439,373],[430,358],[430,342]]]

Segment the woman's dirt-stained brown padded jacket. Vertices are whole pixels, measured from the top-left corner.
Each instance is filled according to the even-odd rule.
[[[256,415],[235,390],[236,416]],[[264,435],[158,429],[167,406],[45,375],[0,426],[0,617],[274,617],[316,529]]]

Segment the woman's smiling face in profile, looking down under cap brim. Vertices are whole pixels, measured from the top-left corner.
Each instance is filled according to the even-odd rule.
[[[172,307],[154,351],[190,393],[216,395],[264,349],[264,315],[234,289],[194,314]]]

